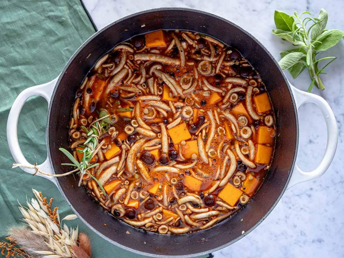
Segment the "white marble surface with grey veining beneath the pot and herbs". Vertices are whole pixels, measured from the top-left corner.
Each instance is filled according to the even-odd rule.
[[[246,0],[246,1],[197,1],[197,0],[84,0],[98,28],[125,15],[158,7],[186,7],[201,9],[222,16],[252,33],[276,59],[279,52],[290,49],[289,42],[282,42],[271,34],[274,28],[275,9],[287,13],[309,11],[318,16],[321,8],[329,13],[327,28],[344,30],[344,1],[320,0]],[[344,257],[344,41],[326,54],[337,60],[322,77],[326,90],[314,93],[325,98],[333,109],[338,122],[339,142],[336,156],[329,170],[319,179],[298,184],[287,190],[268,218],[252,233],[235,244],[214,253],[222,257]],[[310,83],[306,71],[291,83],[307,90]],[[321,112],[313,104],[300,109],[300,145],[298,165],[304,170],[314,169],[326,146],[326,126]]]

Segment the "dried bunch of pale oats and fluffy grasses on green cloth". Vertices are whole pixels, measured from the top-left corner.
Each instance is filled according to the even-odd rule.
[[[68,228],[62,221],[74,220],[70,214],[60,220],[58,207],[52,209],[53,198],[49,203],[41,192],[32,189],[36,199],[26,201],[27,207],[19,210],[28,226],[13,227],[9,230],[9,242],[0,243],[1,253],[6,257],[91,257],[91,244],[88,236],[78,233],[78,227]]]

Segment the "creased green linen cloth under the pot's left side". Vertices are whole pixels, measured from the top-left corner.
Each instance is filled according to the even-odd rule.
[[[14,99],[25,88],[57,77],[69,57],[95,32],[79,0],[2,0],[0,9],[0,237],[10,226],[20,225],[18,201],[25,204],[32,188],[54,198],[60,216],[71,214],[54,184],[42,177],[11,169],[6,123]],[[42,97],[26,101],[18,124],[19,144],[26,159],[41,164],[46,158],[45,125],[47,103]],[[18,200],[18,201],[17,201]],[[93,257],[143,257],[125,251],[99,237],[79,219],[92,243]],[[203,256],[207,257],[207,256]]]

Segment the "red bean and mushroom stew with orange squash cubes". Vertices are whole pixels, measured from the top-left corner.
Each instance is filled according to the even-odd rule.
[[[274,121],[264,82],[236,49],[159,30],[97,61],[76,93],[69,141],[89,166],[80,182],[104,209],[183,234],[250,201],[269,169]]]

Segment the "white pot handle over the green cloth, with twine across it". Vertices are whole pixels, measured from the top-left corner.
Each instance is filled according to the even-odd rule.
[[[48,105],[49,105],[57,79],[58,77],[50,82],[33,86],[33,87],[23,90],[13,102],[12,108],[10,110],[10,113],[7,119],[7,142],[8,142],[8,146],[10,147],[10,151],[15,162],[18,164],[23,164],[23,165],[28,165],[28,166],[31,165],[25,159],[20,149],[19,142],[18,142],[17,126],[18,126],[18,119],[19,119],[19,114],[21,112],[21,109],[23,108],[25,101],[29,97],[34,96],[34,95],[42,96],[43,98],[45,98],[45,100],[48,102]],[[37,165],[37,167],[46,173],[52,173],[49,157],[47,157],[42,164]],[[22,167],[22,166],[20,166],[20,168],[24,170],[25,172],[28,172],[32,175],[36,173],[36,170],[34,168],[27,168],[27,167]],[[37,173],[36,175],[49,179],[57,186],[56,179],[54,177],[42,175],[40,173]]]

